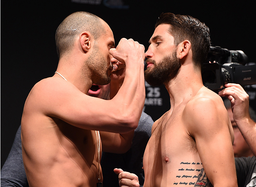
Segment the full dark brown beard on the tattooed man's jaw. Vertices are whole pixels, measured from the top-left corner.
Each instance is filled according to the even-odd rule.
[[[151,86],[160,86],[172,80],[178,74],[181,63],[177,58],[177,52],[164,56],[157,64],[155,60],[148,59],[154,66],[144,71],[145,80]]]

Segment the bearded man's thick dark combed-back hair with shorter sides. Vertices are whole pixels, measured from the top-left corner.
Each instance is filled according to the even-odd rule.
[[[174,45],[184,40],[191,42],[192,59],[197,67],[202,66],[210,49],[210,29],[190,15],[162,13],[156,21],[155,28],[161,24],[169,24],[169,32],[174,37]]]

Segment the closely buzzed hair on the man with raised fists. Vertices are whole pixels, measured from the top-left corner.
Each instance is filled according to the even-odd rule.
[[[72,49],[75,38],[83,31],[89,31],[94,40],[97,40],[105,33],[103,22],[96,15],[84,11],[77,11],[66,17],[55,32],[58,57]]]

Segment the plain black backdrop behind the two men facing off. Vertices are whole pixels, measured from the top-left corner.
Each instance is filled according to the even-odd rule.
[[[210,28],[212,45],[242,50],[249,61],[256,61],[255,0],[123,2],[128,9],[109,8],[103,3],[72,3],[71,0],[1,1],[1,167],[20,126],[28,93],[36,82],[51,77],[56,70],[55,30],[74,11],[88,11],[103,18],[113,30],[116,43],[121,38],[133,38],[146,49],[160,13],[188,14]],[[153,120],[169,107],[165,89],[161,87],[160,91],[163,106],[157,110],[145,107]],[[157,92],[154,89],[151,94],[156,96]]]

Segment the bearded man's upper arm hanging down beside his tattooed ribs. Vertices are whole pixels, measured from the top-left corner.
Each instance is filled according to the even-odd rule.
[[[187,111],[187,117],[191,119],[188,131],[196,141],[207,177],[214,184],[233,180],[235,165],[230,122],[225,107],[210,102],[194,105],[193,109],[190,109],[192,112]]]

